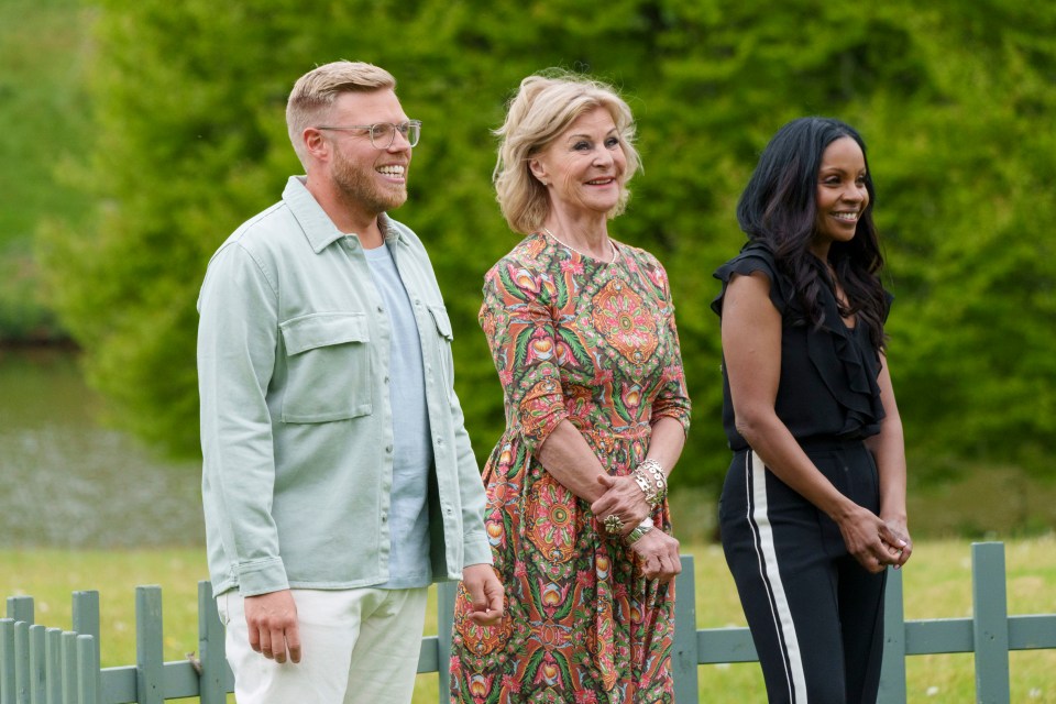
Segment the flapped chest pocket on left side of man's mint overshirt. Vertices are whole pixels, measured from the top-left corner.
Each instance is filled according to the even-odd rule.
[[[286,345],[284,422],[326,422],[371,413],[366,314],[310,314],[279,326]]]

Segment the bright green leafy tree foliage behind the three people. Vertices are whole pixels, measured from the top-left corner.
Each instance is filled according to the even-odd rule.
[[[482,276],[516,241],[491,189],[491,130],[550,66],[613,82],[638,120],[645,173],[610,232],[672,282],[694,400],[681,481],[715,486],[728,462],[711,272],[743,243],[734,208],[759,151],[802,114],[839,117],[870,146],[913,455],[1044,469],[1056,450],[1056,6],[106,0],[96,36],[81,182],[99,207],[40,251],[95,384],[173,449],[197,448],[206,262],[299,170],[283,117],[294,80],[350,58],[389,69],[425,123],[395,216],[440,276],[479,454],[503,424]]]

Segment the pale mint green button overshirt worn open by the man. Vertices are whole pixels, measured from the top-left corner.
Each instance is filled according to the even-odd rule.
[[[414,306],[430,440],[436,579],[491,563],[484,487],[453,387],[451,323],[421,241],[381,222]],[[392,330],[355,234],[292,177],[220,246],[198,299],[202,503],[215,594],[388,579]]]

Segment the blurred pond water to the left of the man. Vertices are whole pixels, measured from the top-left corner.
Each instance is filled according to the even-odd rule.
[[[204,544],[200,477],[106,427],[75,354],[0,350],[0,548]]]

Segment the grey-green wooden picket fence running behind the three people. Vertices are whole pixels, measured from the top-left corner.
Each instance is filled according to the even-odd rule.
[[[971,618],[904,620],[902,574],[889,572],[882,703],[905,702],[908,656],[974,652],[976,701],[1008,704],[1009,652],[1056,648],[1056,614],[1009,616],[1004,546],[975,543],[971,557]],[[698,666],[757,657],[747,628],[695,628],[693,558],[682,558],[678,579],[675,696],[695,702]],[[118,668],[99,667],[99,593],[76,592],[73,600],[73,628],[63,630],[34,624],[32,597],[8,598],[8,617],[0,619],[0,704],[164,704],[194,696],[201,704],[227,701],[232,676],[208,582],[198,585],[199,656],[175,662],[164,662],[162,656],[161,587],[136,587],[136,663]],[[453,585],[441,585],[438,623],[443,637],[424,638],[418,661],[418,672],[439,673],[440,701],[448,689],[453,601]]]

